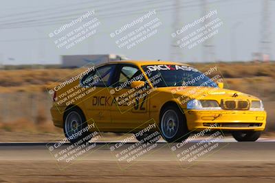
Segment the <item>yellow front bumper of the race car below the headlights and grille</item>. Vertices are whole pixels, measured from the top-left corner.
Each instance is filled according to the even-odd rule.
[[[185,110],[188,130],[265,130],[266,112],[250,110]]]

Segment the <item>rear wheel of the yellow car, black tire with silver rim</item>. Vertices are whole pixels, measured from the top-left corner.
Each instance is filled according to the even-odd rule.
[[[81,132],[85,127],[87,127],[87,121],[79,108],[72,108],[65,112],[63,132],[68,141],[73,144],[89,142],[91,140],[91,132]]]

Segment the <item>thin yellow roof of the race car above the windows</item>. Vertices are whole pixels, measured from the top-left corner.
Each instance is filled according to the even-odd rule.
[[[189,66],[188,64],[184,64],[181,62],[170,62],[170,61],[164,61],[164,60],[118,60],[118,61],[112,61],[104,64],[135,64],[137,66],[142,66],[142,65],[157,65],[157,64],[180,64],[180,65],[186,65]],[[100,64],[100,66],[104,65]]]

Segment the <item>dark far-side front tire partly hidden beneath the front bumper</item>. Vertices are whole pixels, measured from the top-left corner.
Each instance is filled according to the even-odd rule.
[[[254,142],[261,136],[261,132],[232,132],[232,136],[238,142]]]

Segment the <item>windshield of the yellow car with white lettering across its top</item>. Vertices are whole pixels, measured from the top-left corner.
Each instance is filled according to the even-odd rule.
[[[155,87],[168,86],[208,86],[217,87],[209,77],[199,72],[197,69],[186,65],[144,65],[142,69],[148,76],[151,83],[155,83]],[[155,82],[155,76],[161,78],[159,82]]]

